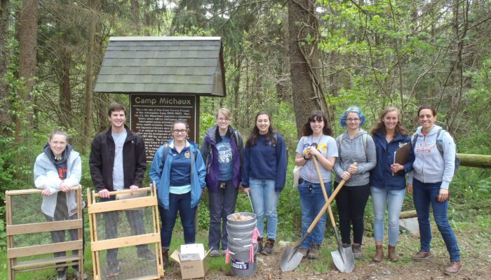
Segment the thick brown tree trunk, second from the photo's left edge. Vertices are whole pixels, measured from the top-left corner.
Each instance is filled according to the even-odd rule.
[[[25,84],[19,90],[18,112],[27,118],[27,129],[32,126],[32,110],[30,105],[30,92],[34,87],[34,74],[36,73],[36,41],[37,41],[37,15],[36,0],[22,0],[22,13],[19,27],[19,77],[25,79]],[[20,132],[25,129],[22,116],[15,119],[15,139],[22,140]]]

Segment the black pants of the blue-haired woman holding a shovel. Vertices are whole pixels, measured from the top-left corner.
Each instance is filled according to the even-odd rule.
[[[339,183],[334,183],[337,188]],[[361,244],[363,239],[363,216],[370,196],[370,184],[363,186],[344,186],[336,196],[339,215],[339,230],[344,244],[351,244],[351,225],[353,225],[353,242]]]

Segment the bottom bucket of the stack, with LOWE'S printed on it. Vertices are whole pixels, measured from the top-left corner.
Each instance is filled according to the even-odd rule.
[[[250,246],[253,246],[250,244]],[[229,243],[230,260],[232,272],[236,276],[253,276],[256,273],[257,261],[257,243],[254,244],[254,259],[250,259],[250,246],[235,246]]]

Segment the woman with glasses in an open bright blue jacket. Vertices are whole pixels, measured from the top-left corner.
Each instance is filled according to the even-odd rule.
[[[157,186],[159,214],[162,219],[163,264],[168,265],[170,239],[179,211],[184,243],[194,243],[194,215],[205,188],[206,169],[198,146],[186,139],[189,125],[184,120],[173,123],[173,139],[161,146],[150,167],[150,179]]]

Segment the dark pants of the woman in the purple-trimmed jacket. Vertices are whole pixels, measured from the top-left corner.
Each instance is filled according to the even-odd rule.
[[[227,249],[227,216],[234,213],[238,188],[232,181],[225,182],[225,188],[208,192],[208,208],[210,209],[210,228],[208,230],[208,248],[213,250]]]

